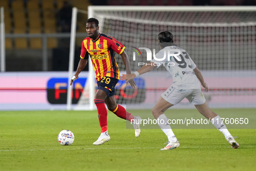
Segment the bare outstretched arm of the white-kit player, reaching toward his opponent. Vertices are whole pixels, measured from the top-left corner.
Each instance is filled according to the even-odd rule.
[[[146,72],[151,71],[154,67],[155,67],[154,62],[149,62],[143,65],[143,67],[141,67],[138,71],[134,72],[133,74],[122,74],[123,76],[120,77],[120,80],[126,80],[126,83],[127,83],[129,80],[135,78],[136,76],[139,76]]]

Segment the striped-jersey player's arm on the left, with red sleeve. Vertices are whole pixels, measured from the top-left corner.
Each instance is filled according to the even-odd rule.
[[[72,85],[72,83],[78,79],[78,75],[80,74],[80,72],[84,69],[84,67],[87,65],[87,62],[88,62],[88,59],[89,59],[89,53],[87,52],[87,49],[85,48],[84,46],[84,40],[82,42],[82,47],[81,47],[81,55],[80,55],[81,59],[78,63],[78,68],[75,72],[75,75],[74,75],[74,79],[71,79],[70,80],[70,84],[69,85]]]

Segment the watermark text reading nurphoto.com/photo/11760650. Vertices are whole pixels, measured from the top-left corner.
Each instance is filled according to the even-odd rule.
[[[165,121],[163,119],[141,119],[141,120],[131,120],[131,124],[133,124],[133,122],[135,122],[136,124],[140,124],[140,125],[149,125],[149,124],[180,124],[180,125],[198,125],[198,124],[209,124],[211,123],[211,121],[214,121],[214,118],[209,118],[209,119],[193,119],[193,118],[185,118],[185,119],[168,119],[167,123],[165,123]],[[248,118],[217,118],[216,119],[217,124],[219,124],[219,122],[221,124],[248,124],[249,123],[249,119]]]

